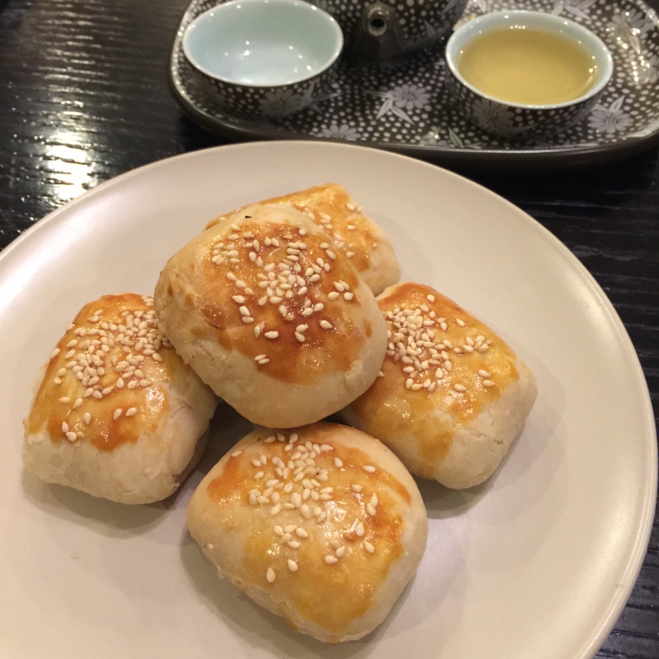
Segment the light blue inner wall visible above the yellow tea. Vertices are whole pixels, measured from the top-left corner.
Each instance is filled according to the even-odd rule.
[[[459,59],[461,51],[465,46],[480,34],[490,32],[491,30],[514,29],[518,27],[528,27],[530,29],[547,30],[549,32],[556,32],[566,38],[570,38],[577,43],[580,43],[586,50],[590,52],[594,62],[597,64],[597,78],[594,84],[588,91],[581,97],[574,100],[557,103],[553,105],[522,105],[509,101],[502,101],[501,99],[489,96],[480,89],[472,86],[460,72]],[[605,46],[603,41],[590,32],[590,30],[570,21],[564,19],[562,16],[555,16],[554,14],[545,14],[543,12],[532,12],[526,10],[503,10],[500,12],[492,12],[491,14],[483,14],[478,16],[459,27],[450,37],[446,43],[446,63],[453,73],[453,75],[468,89],[475,93],[492,100],[511,107],[529,107],[529,108],[560,108],[562,106],[573,105],[586,100],[595,94],[599,93],[601,89],[607,84],[613,73],[613,58],[609,49]]]

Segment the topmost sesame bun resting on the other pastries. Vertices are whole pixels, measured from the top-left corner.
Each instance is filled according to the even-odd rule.
[[[247,207],[167,262],[155,306],[176,351],[250,421],[290,428],[369,388],[386,349],[378,303],[307,216]]]

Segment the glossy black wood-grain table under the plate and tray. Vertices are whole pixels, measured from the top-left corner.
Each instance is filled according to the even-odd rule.
[[[167,89],[186,4],[0,0],[0,248],[108,178],[223,143],[189,122]],[[569,172],[460,173],[531,214],[599,281],[638,351],[657,417],[657,148]],[[629,603],[597,657],[659,657],[657,518]]]

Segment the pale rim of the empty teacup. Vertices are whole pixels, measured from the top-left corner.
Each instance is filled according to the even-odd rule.
[[[209,71],[209,69],[206,69],[205,67],[200,65],[198,61],[196,61],[194,56],[192,56],[192,54],[190,53],[189,41],[196,26],[200,25],[201,23],[207,20],[210,20],[213,14],[227,11],[225,9],[227,7],[241,5],[241,4],[242,5],[251,5],[251,4],[291,5],[291,6],[298,6],[301,11],[317,12],[317,14],[323,16],[323,21],[325,21],[327,26],[331,27],[332,32],[334,32],[335,43],[334,43],[334,49],[332,50],[332,54],[330,54],[327,60],[325,60],[322,67],[319,67],[318,69],[316,69],[312,73],[309,73],[303,78],[291,78],[290,80],[286,80],[286,82],[273,82],[273,83],[239,82],[238,80],[233,80],[231,78],[226,78],[224,76],[218,76],[217,73],[213,73],[212,71]],[[205,12],[202,12],[201,14],[196,16],[192,21],[190,21],[190,23],[183,30],[183,35],[181,36],[181,47],[183,49],[183,54],[185,56],[185,59],[187,60],[189,65],[191,65],[194,69],[196,69],[200,73],[203,73],[203,75],[207,76],[208,78],[211,78],[212,80],[218,80],[218,82],[223,82],[224,84],[239,87],[241,89],[279,89],[293,84],[299,84],[301,82],[308,82],[309,80],[313,80],[314,78],[320,76],[321,73],[325,73],[325,71],[331,68],[336,63],[336,60],[338,60],[341,51],[343,51],[343,41],[344,41],[343,31],[336,22],[336,19],[334,19],[334,16],[328,14],[325,10],[321,9],[320,7],[317,7],[316,5],[312,5],[304,0],[229,0],[228,2],[224,2],[222,4],[215,5],[210,9],[207,9]]]

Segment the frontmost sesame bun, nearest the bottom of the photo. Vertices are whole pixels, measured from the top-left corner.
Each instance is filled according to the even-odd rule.
[[[244,437],[194,492],[187,527],[220,577],[338,643],[384,620],[421,561],[428,518],[386,446],[321,422]]]

